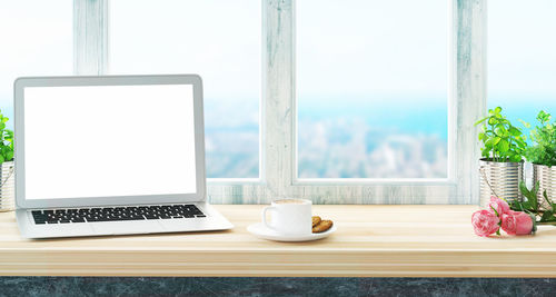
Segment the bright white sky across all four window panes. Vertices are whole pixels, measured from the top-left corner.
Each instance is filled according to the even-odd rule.
[[[260,97],[261,1],[153,3],[110,1],[111,72],[203,72],[212,87],[208,97]],[[309,95],[363,100],[361,95],[391,90],[444,95],[447,3],[296,1],[299,95],[306,100]],[[526,7],[520,0],[488,1],[490,96],[518,101],[523,95],[548,100],[542,97],[556,93],[555,11],[553,0]],[[6,108],[16,77],[72,72],[72,1],[6,1],[0,39],[0,107]]]

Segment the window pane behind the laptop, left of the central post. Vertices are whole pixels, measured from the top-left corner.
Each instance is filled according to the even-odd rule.
[[[261,1],[110,1],[111,73],[203,79],[207,177],[259,177]]]

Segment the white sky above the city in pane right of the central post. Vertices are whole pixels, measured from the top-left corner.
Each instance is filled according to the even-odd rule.
[[[447,3],[296,1],[299,99],[394,92],[398,100],[434,93],[445,101]]]

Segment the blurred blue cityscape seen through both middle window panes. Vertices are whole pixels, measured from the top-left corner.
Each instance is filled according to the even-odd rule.
[[[334,106],[322,110],[301,105],[299,177],[447,177],[445,107],[431,107],[428,112],[408,108],[397,116],[390,115],[390,120],[380,115],[388,113],[385,109],[384,106],[354,108],[351,117],[347,117]],[[207,176],[257,178],[258,105],[207,101],[205,115]]]

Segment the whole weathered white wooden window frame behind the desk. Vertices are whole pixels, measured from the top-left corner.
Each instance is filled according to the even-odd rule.
[[[75,73],[108,73],[109,0],[73,0]],[[486,0],[451,0],[448,44],[448,178],[299,179],[295,1],[262,1],[259,178],[209,179],[214,204],[478,204],[476,119],[486,112]],[[302,0],[301,0],[302,1]],[[318,12],[318,9],[316,8]]]

